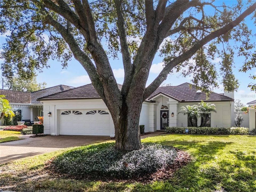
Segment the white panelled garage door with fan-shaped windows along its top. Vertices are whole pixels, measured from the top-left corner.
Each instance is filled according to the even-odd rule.
[[[110,135],[110,114],[106,110],[59,111],[60,135]]]

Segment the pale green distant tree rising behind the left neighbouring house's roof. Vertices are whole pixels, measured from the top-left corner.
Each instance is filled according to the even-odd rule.
[[[5,87],[13,91],[33,92],[46,87],[46,82],[37,83],[36,76],[32,78],[22,78],[18,75],[4,81]]]

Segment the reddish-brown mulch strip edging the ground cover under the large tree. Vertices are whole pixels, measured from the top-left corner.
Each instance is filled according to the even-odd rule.
[[[128,178],[128,179],[119,179],[119,178],[111,178],[109,176],[106,177],[98,177],[97,175],[88,175],[87,177],[74,177],[70,176],[68,174],[59,173],[58,170],[53,167],[51,162],[54,158],[50,159],[45,163],[45,170],[53,177],[58,178],[67,178],[67,179],[82,179],[82,180],[89,180],[89,181],[103,181],[103,182],[140,182],[140,183],[150,183],[152,181],[161,181],[170,179],[175,171],[180,169],[181,167],[187,165],[192,158],[190,155],[182,150],[179,150],[174,147],[174,149],[177,151],[177,157],[174,159],[174,163],[163,170],[158,170],[155,173],[152,174],[146,174],[143,176],[138,176],[136,178]]]

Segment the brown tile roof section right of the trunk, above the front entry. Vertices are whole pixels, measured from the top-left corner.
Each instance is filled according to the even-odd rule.
[[[164,93],[165,95],[179,101],[179,102],[200,102],[200,101],[234,101],[234,99],[227,97],[222,94],[211,92],[209,98],[207,99],[206,93],[197,93],[195,85],[190,83],[182,83],[177,86],[168,86],[168,87],[158,87],[153,94],[148,98],[149,100],[159,93]]]

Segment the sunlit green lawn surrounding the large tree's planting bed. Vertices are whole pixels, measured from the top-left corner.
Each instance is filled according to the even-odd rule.
[[[74,180],[44,168],[44,162],[64,149],[2,165],[0,186],[15,191],[256,191],[255,136],[159,135],[142,141],[178,147],[193,161],[169,180],[148,184]]]

